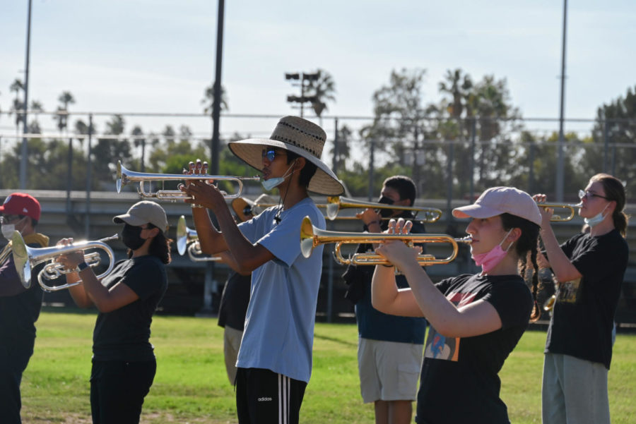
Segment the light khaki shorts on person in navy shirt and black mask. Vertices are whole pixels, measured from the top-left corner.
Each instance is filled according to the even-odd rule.
[[[423,344],[358,339],[360,394],[365,404],[416,400],[423,347]]]

